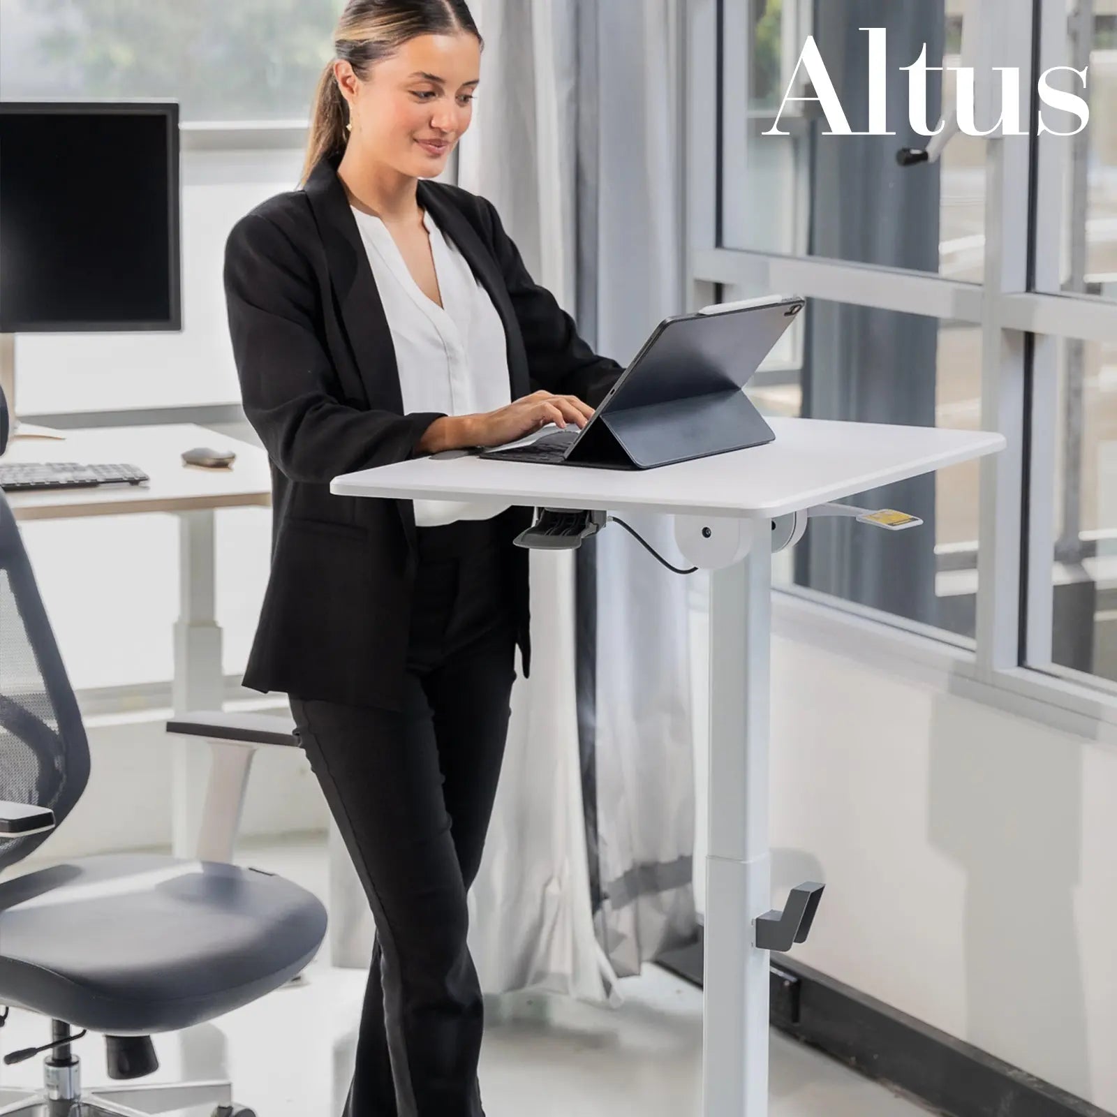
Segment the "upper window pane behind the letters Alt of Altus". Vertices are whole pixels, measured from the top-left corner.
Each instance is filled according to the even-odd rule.
[[[849,0],[724,3],[722,245],[911,268],[980,283],[984,264],[985,141],[957,136],[935,165],[900,168],[900,147],[927,140],[907,115],[910,65],[924,45],[929,74],[927,127],[953,99],[960,65],[961,0],[881,8],[888,28],[888,127],[894,136],[832,136],[805,70],[796,66],[813,35],[850,127],[868,128],[865,6]],[[886,18],[887,16],[887,18]],[[873,21],[870,21],[873,22]],[[945,80],[945,90],[943,83]],[[787,136],[767,136],[779,117]]]

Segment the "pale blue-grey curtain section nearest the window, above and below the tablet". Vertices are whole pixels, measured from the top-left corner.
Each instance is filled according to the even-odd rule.
[[[684,309],[680,8],[681,0],[583,7],[580,63],[596,78],[595,92],[585,89],[586,105],[596,106],[586,136],[595,165],[579,203],[582,213],[595,206],[596,218],[585,222],[594,244],[582,254],[579,285],[596,350],[622,363],[661,318]],[[668,517],[622,516],[674,565],[688,565]],[[595,558],[595,593],[588,586],[579,608],[596,611],[598,938],[624,975],[696,932],[689,579],[617,525],[599,536]]]

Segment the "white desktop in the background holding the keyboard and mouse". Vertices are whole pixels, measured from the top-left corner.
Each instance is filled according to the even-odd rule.
[[[39,489],[9,493],[17,519],[66,519],[141,512],[190,512],[271,503],[266,451],[204,427],[98,427],[63,431],[65,439],[15,438],[2,461],[122,462],[151,477],[144,486]],[[180,455],[197,446],[235,450],[228,469],[184,465]]]

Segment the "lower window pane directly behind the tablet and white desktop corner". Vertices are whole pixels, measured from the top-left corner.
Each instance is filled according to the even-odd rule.
[[[723,293],[726,300],[745,297],[735,287]],[[798,365],[774,353],[748,390],[766,414],[981,426],[976,325],[810,299],[784,337],[800,354]],[[970,461],[859,495],[849,503],[899,508],[924,524],[894,534],[847,519],[817,521],[793,553],[779,556],[776,584],[803,585],[972,639],[978,469]]]

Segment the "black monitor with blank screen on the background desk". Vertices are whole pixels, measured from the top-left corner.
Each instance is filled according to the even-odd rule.
[[[181,328],[178,105],[0,102],[0,333]]]

